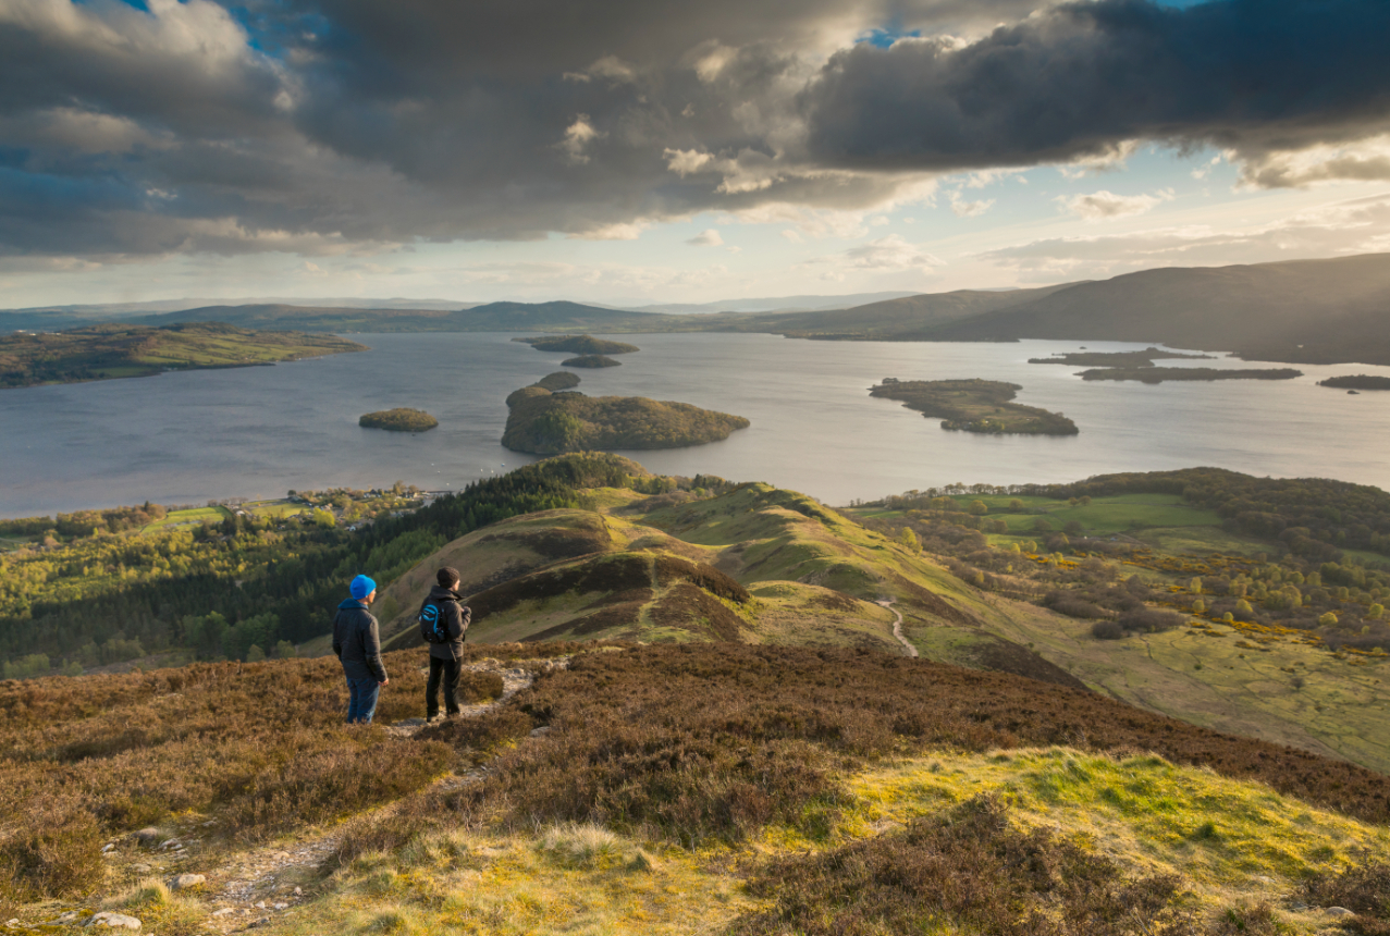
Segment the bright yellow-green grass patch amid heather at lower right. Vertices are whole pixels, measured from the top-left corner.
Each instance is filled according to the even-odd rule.
[[[1076,836],[1143,873],[1183,875],[1212,910],[1247,897],[1283,903],[1305,873],[1340,869],[1361,850],[1390,848],[1383,826],[1152,754],[941,754],[863,773],[851,789],[858,804],[848,837],[994,791],[1024,826]]]

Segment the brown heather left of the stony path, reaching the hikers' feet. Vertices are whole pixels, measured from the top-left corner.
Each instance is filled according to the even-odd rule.
[[[379,722],[424,713],[423,663],[386,656]],[[466,698],[502,690],[466,676]],[[445,744],[348,727],[345,711],[332,658],[0,684],[0,897],[81,890],[111,833],[177,811],[215,812],[250,841],[396,800],[453,761]]]

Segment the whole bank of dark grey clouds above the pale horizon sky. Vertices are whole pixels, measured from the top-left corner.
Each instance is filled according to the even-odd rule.
[[[1386,113],[1371,0],[147,7],[0,0],[0,256],[632,236],[1131,138],[1280,152]],[[881,28],[974,42],[845,49]],[[1377,171],[1347,159],[1320,171]]]

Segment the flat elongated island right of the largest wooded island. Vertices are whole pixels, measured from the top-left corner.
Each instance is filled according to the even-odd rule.
[[[895,399],[941,428],[992,435],[1076,435],[1076,423],[1037,406],[1011,402],[1023,389],[997,380],[897,380],[885,377],[870,396]]]

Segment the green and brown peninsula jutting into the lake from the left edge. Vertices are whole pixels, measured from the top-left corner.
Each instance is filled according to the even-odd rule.
[[[0,338],[0,387],[150,377],[370,350],[336,335],[250,331],[221,323],[150,328],[121,323]]]

